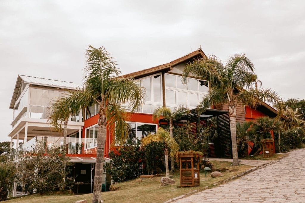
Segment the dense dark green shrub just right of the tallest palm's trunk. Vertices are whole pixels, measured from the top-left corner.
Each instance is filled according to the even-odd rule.
[[[140,141],[136,144],[128,140],[126,145],[109,153],[110,163],[104,163],[104,168],[112,176],[114,182],[135,179],[142,173],[143,151]],[[111,167],[110,167],[111,166]]]

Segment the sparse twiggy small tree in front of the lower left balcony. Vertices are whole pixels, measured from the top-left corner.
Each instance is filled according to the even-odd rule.
[[[23,149],[19,153],[17,181],[23,185],[23,191],[49,192],[72,187],[73,179],[68,177],[70,158],[65,157],[59,147],[48,147],[38,142],[34,150]],[[63,181],[64,180],[64,181]]]

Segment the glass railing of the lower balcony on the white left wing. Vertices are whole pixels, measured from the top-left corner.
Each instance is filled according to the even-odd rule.
[[[20,145],[16,151],[12,150],[12,154],[16,153],[16,157],[18,157],[20,151],[34,153],[38,150],[37,147],[40,143],[44,143],[46,152],[51,147],[60,147],[60,149],[64,149],[63,137],[36,136],[27,141],[26,144]],[[96,143],[96,139],[94,138],[66,138],[66,153],[81,154],[84,153],[84,150],[86,149],[96,147]]]

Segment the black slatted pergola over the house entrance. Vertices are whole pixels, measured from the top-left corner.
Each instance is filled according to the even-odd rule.
[[[213,143],[209,143],[210,157],[231,157],[232,156],[232,142],[230,131],[230,119],[228,111],[216,109],[199,109],[190,110],[188,114],[177,120],[173,120],[173,124],[181,125],[186,122],[196,123],[193,133],[198,133],[201,127],[206,127],[206,120],[216,117],[218,136]],[[163,118],[159,121],[160,124],[167,124],[168,121]]]

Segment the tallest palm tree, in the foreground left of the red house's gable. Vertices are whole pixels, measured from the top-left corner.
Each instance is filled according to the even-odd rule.
[[[92,202],[100,202],[106,125],[110,123],[112,127],[115,127],[115,142],[123,145],[128,136],[128,124],[125,122],[126,109],[121,105],[130,102],[131,112],[133,112],[142,106],[145,92],[134,80],[119,77],[120,70],[104,47],[94,48],[89,45],[86,56],[87,66],[84,68],[83,89],[70,92],[69,96],[60,99],[61,107],[54,110],[70,108],[71,112],[79,112],[82,108],[98,104],[99,120]],[[52,114],[56,112],[53,111]],[[54,121],[59,123],[64,118],[60,116]]]

